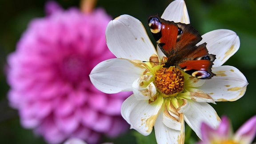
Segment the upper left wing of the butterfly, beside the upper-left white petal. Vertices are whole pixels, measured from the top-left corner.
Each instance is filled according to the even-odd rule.
[[[156,43],[167,57],[173,57],[179,53],[185,56],[188,50],[193,51],[192,46],[202,40],[199,32],[192,28],[191,24],[175,23],[153,15],[149,17],[148,25]]]

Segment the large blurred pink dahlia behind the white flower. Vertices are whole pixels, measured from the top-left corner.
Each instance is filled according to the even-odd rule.
[[[128,128],[120,107],[128,93],[105,94],[91,84],[89,73],[113,58],[105,41],[111,18],[102,9],[90,14],[76,8],[46,6],[48,16],[32,20],[8,56],[10,105],[21,124],[48,143],[71,137],[97,143],[102,134],[117,136]]]

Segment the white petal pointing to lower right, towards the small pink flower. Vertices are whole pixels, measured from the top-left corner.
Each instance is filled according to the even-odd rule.
[[[216,111],[208,103],[198,103],[189,101],[184,109],[180,112],[184,114],[184,120],[190,128],[196,132],[196,135],[201,139],[200,126],[202,122],[210,125],[212,128],[217,128],[220,124],[220,117]]]

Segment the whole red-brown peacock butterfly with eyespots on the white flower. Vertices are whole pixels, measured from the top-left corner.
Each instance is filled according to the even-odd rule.
[[[212,73],[216,55],[209,54],[206,43],[196,46],[202,37],[191,24],[175,23],[153,15],[149,16],[148,25],[157,45],[168,58],[164,68],[176,66],[199,79],[216,76]]]

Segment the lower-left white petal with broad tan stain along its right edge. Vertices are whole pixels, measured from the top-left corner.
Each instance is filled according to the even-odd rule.
[[[158,112],[163,104],[163,98],[148,104],[148,100],[136,100],[135,96],[129,96],[121,107],[121,114],[131,125],[131,128],[148,136],[152,132]]]

